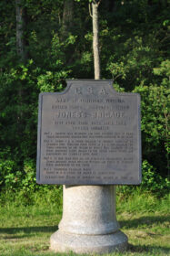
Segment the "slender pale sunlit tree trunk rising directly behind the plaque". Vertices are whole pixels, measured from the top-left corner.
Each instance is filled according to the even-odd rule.
[[[95,80],[100,80],[100,55],[98,42],[98,4],[92,3],[92,20],[93,20],[93,49],[94,49],[94,69]]]

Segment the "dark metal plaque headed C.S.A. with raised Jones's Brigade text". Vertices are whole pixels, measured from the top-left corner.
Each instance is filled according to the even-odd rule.
[[[39,95],[37,183],[141,183],[140,95],[111,80],[67,80]]]

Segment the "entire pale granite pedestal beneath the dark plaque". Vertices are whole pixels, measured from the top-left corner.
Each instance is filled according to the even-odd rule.
[[[115,216],[114,186],[64,186],[63,218],[50,240],[53,251],[124,251],[127,237]]]

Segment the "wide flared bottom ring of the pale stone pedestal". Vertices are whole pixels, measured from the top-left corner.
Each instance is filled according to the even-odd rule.
[[[50,240],[50,249],[55,252],[109,253],[125,251],[127,237],[121,231],[107,235],[75,235],[56,231]]]

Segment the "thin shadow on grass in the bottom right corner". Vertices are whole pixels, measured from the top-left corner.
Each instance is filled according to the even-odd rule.
[[[163,246],[150,246],[150,245],[127,245],[126,252],[139,252],[139,253],[147,253],[147,252],[156,252],[156,255],[160,252],[165,252],[167,255],[170,253],[170,249]]]

